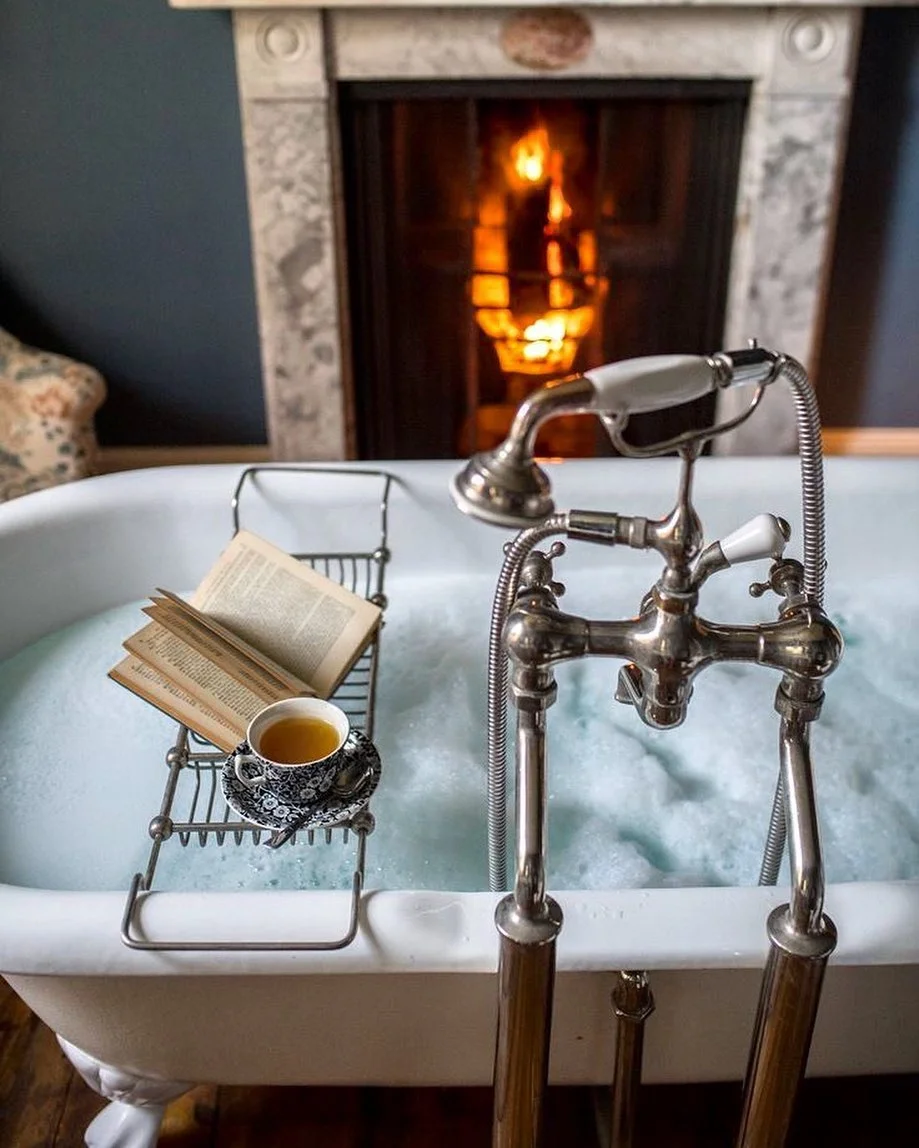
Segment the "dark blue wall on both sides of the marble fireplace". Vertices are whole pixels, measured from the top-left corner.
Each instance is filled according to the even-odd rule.
[[[0,2],[0,326],[96,365],[109,444],[265,421],[226,13]],[[919,425],[919,17],[867,13],[818,386]]]

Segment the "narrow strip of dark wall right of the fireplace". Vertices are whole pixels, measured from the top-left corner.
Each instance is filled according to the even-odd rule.
[[[818,395],[828,426],[919,426],[919,13],[866,13]]]

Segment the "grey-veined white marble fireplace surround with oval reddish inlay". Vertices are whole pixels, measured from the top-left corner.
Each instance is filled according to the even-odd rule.
[[[275,459],[353,453],[335,145],[340,79],[750,80],[722,346],[756,336],[812,365],[860,9],[172,3],[236,9],[263,383]],[[573,16],[582,23],[573,24]],[[574,38],[573,26],[581,29]],[[671,350],[682,348],[661,348]],[[743,393],[722,398],[725,414],[733,413],[735,400],[746,402]],[[782,386],[723,449],[777,452],[794,443],[794,411]]]

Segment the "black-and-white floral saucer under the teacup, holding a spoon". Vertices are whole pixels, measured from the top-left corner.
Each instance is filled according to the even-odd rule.
[[[316,801],[304,804],[301,801],[283,801],[275,797],[264,785],[249,789],[236,777],[233,761],[237,753],[249,753],[249,743],[241,742],[224,763],[220,784],[226,798],[226,804],[237,813],[243,820],[251,821],[263,829],[286,829],[291,821],[309,814],[316,809],[314,816],[303,823],[302,829],[318,829],[325,825],[337,825],[340,822],[350,821],[358,810],[373,797],[376,786],[380,784],[382,767],[376,746],[360,730],[352,729],[348,735],[344,745],[338,751],[343,762],[349,765],[352,761],[364,761],[369,770],[364,784],[356,793],[345,797],[336,797],[334,793],[324,793]],[[242,769],[246,770],[243,766]]]

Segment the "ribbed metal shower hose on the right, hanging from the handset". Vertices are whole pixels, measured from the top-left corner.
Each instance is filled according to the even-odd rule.
[[[797,416],[797,452],[801,457],[801,517],[804,536],[804,594],[823,605],[826,584],[826,517],[824,511],[824,451],[820,413],[808,372],[793,358],[782,357],[781,373],[792,387]],[[774,885],[785,854],[785,789],[781,771],[772,798],[760,884]]]

